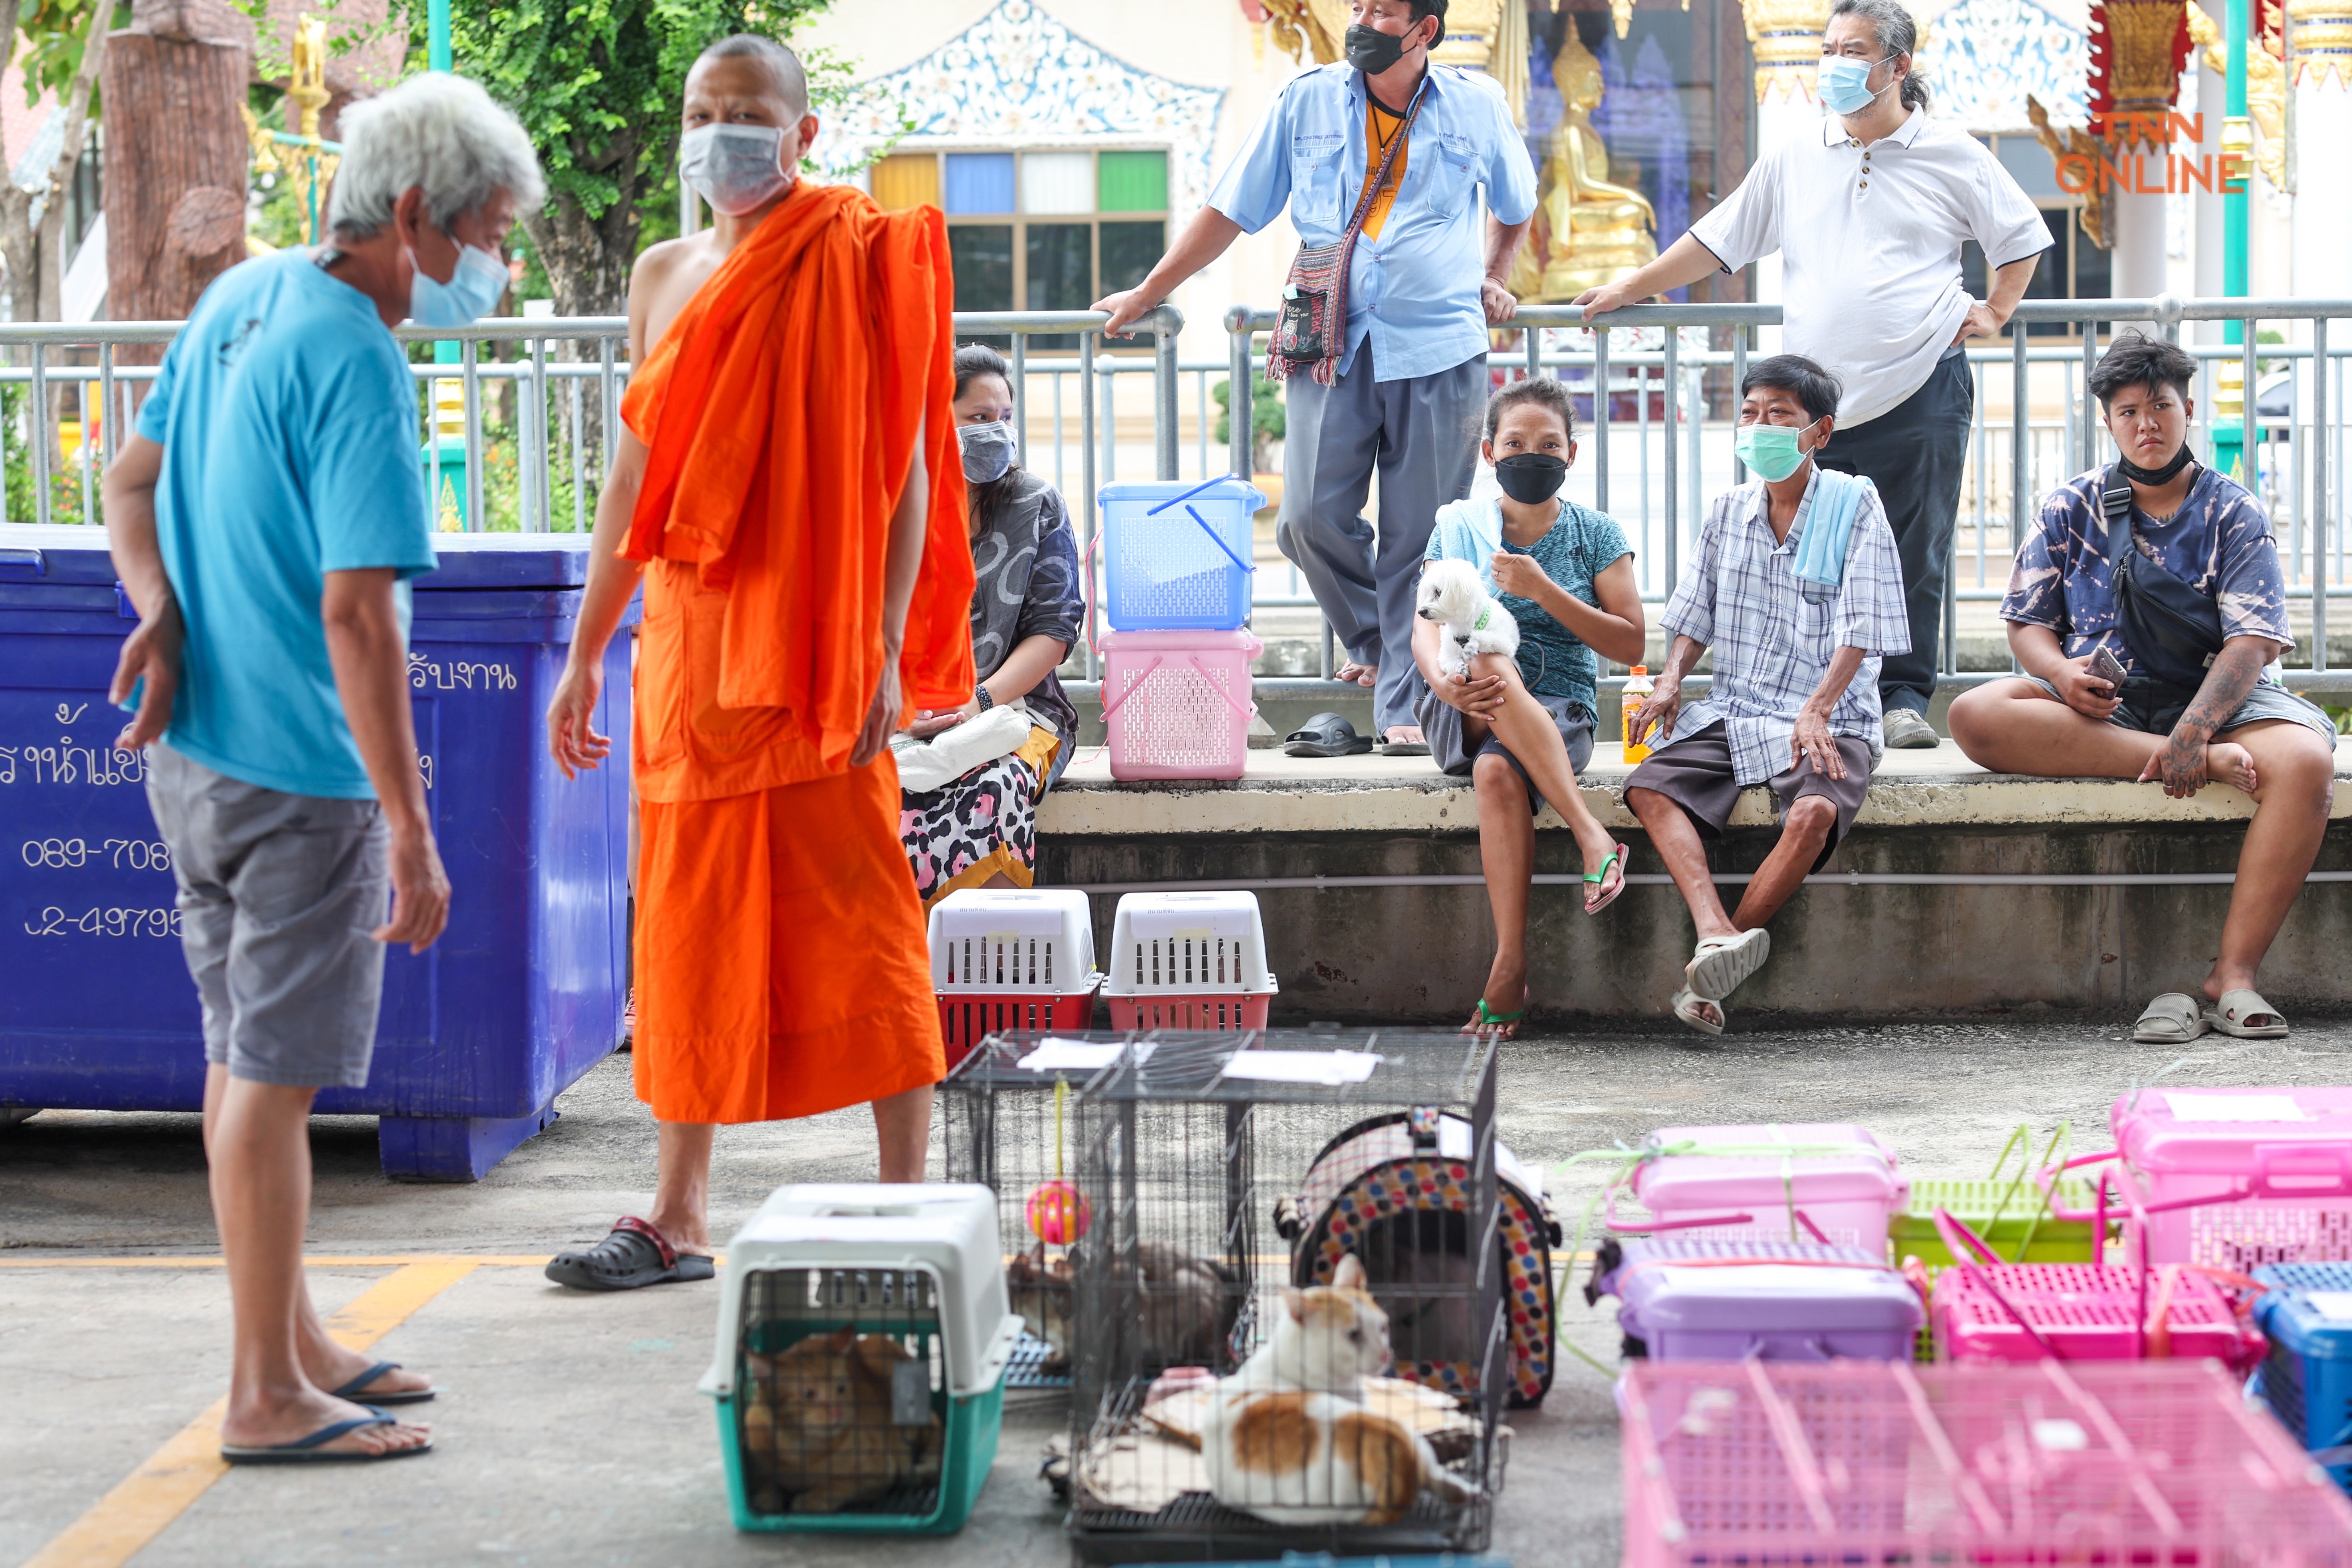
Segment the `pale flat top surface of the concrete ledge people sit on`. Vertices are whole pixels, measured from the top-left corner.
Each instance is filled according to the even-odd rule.
[[[1256,835],[1256,832],[1477,832],[1468,778],[1439,773],[1428,757],[1284,757],[1249,752],[1237,780],[1115,780],[1101,750],[1082,750],[1037,811],[1040,835]],[[1592,748],[1578,776],[1585,806],[1609,827],[1639,827],[1625,809],[1623,748]],[[2352,738],[2336,743],[2336,776],[2352,783]],[[1856,827],[2030,827],[2126,823],[2230,823],[2253,816],[2253,799],[2206,785],[2171,799],[2154,783],[2119,778],[2025,778],[1987,773],[1945,741],[1933,752],[1886,752]],[[2331,816],[2352,816],[2352,788],[2336,790]],[[1769,790],[1740,795],[1733,827],[1771,827]],[[1562,827],[1545,806],[1536,827]]]

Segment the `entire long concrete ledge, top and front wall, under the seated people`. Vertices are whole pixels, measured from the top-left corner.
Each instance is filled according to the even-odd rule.
[[[2352,783],[2352,745],[2336,771]],[[1625,773],[1604,745],[1583,776],[1632,849],[1632,886],[1604,914],[1578,907],[1559,818],[1536,823],[1538,1020],[1665,1025],[1682,983],[1691,919],[1625,811]],[[1950,743],[1889,752],[1853,835],[1773,919],[1733,1027],[2011,1009],[2129,1020],[2211,966],[2251,809],[2223,785],[2176,802],[2152,783],[1992,776]],[[2352,816],[2352,788],[2333,813]],[[1745,882],[1776,837],[1769,795],[1750,790],[1710,844],[1717,882]],[[2263,966],[2263,992],[2298,1016],[2352,1004],[2352,832],[2331,830],[2314,870]],[[1232,783],[1112,783],[1089,750],[1040,811],[1037,882],[1103,893],[1098,950],[1117,891],[1254,889],[1291,1023],[1461,1020],[1494,957],[1470,783],[1425,757],[1251,752]]]

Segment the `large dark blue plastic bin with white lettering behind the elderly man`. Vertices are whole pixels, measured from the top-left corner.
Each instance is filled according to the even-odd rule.
[[[543,715],[588,536],[442,534],[409,686],[449,929],[390,952],[374,1072],[318,1110],[381,1117],[390,1175],[475,1180],[621,1044],[628,1001],[628,637],[579,780]],[[635,611],[633,611],[635,614]],[[0,1105],[200,1110],[205,1051],[146,764],[106,703],[132,628],[106,536],[0,527]]]

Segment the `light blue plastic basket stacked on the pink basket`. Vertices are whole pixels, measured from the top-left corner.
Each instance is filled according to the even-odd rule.
[[[1249,621],[1251,520],[1265,494],[1209,484],[1105,484],[1103,614],[1120,632],[1230,632]]]

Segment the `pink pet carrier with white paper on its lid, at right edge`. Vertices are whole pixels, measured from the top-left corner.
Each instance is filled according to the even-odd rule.
[[[2070,1164],[2122,1161],[2147,1260],[2352,1260],[2352,1088],[2143,1088],[2110,1121],[2114,1152]]]

